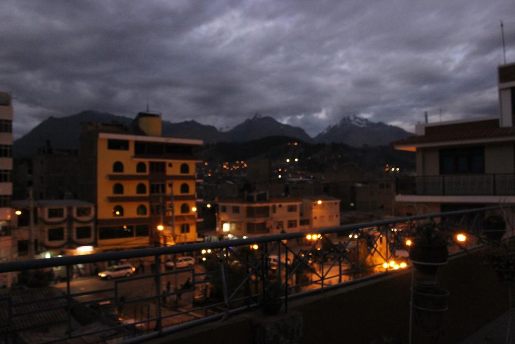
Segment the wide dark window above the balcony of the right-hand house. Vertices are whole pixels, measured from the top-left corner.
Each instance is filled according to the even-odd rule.
[[[440,173],[485,173],[485,149],[470,147],[440,150]]]

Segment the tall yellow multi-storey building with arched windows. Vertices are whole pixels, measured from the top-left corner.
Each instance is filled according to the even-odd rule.
[[[194,242],[195,146],[161,136],[161,117],[139,113],[130,127],[90,123],[81,135],[85,199],[97,204],[99,250]]]

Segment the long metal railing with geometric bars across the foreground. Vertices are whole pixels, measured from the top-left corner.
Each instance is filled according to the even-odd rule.
[[[417,221],[445,219],[450,231],[478,234],[490,207],[337,226],[311,233],[12,261],[32,289],[0,294],[0,343],[27,336],[54,343],[143,341],[258,306],[272,281],[288,301],[409,267],[405,240]],[[510,208],[511,209],[511,208]],[[459,220],[459,221],[458,221]],[[451,243],[452,254],[477,244]],[[193,257],[179,259],[182,256]],[[132,265],[100,280],[108,263]],[[183,264],[180,266],[179,264]],[[95,269],[96,267],[96,269]],[[176,268],[174,268],[176,267]],[[129,270],[131,270],[129,268]],[[105,276],[107,277],[107,275]],[[43,281],[59,280],[50,286]],[[44,329],[41,332],[38,329]],[[4,341],[2,341],[4,340]]]

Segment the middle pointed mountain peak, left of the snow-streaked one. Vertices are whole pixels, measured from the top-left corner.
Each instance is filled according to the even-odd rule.
[[[261,117],[259,114],[236,125],[227,132],[229,141],[236,142],[258,140],[267,136],[292,137],[304,142],[313,142],[313,139],[306,134],[304,129],[282,124],[271,117]]]

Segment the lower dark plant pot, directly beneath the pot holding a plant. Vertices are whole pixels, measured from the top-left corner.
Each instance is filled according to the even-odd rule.
[[[443,313],[448,309],[449,291],[433,286],[416,286],[413,290],[413,313],[415,321],[427,332],[439,331]]]

